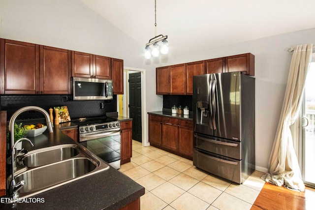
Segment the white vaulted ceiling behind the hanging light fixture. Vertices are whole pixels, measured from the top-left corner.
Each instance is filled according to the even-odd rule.
[[[315,0],[81,0],[145,47],[168,35],[183,55],[315,28]]]

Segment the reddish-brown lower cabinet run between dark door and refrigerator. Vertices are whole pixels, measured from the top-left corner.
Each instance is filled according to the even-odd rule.
[[[150,145],[192,160],[192,121],[149,114]]]

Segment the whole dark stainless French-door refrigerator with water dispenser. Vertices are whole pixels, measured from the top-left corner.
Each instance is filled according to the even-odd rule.
[[[193,76],[193,165],[243,183],[255,167],[255,80],[241,72]]]

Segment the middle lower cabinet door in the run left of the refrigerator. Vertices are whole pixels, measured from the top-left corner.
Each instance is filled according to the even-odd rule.
[[[162,147],[178,151],[178,128],[175,124],[162,123]]]

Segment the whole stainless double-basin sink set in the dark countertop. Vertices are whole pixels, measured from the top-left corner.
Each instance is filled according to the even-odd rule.
[[[21,157],[19,162],[26,168],[26,171],[14,175],[16,183],[25,181],[18,191],[20,199],[109,169],[103,160],[77,144],[32,150]],[[11,179],[9,176],[7,184]]]

